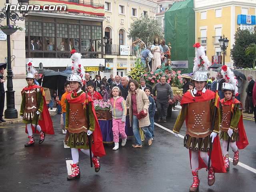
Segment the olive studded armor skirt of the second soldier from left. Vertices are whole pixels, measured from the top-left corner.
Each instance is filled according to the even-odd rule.
[[[87,133],[70,133],[67,130],[65,136],[65,144],[70,148],[77,148],[77,149],[89,149],[88,141],[87,141]]]

